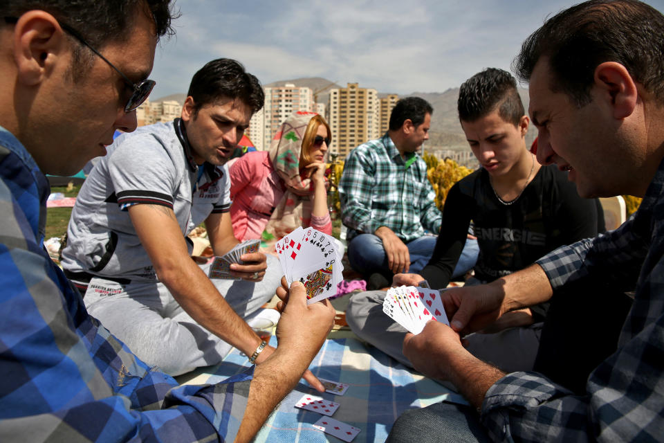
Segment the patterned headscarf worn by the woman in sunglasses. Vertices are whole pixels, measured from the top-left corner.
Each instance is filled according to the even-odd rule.
[[[311,219],[311,179],[299,174],[299,158],[306,127],[315,112],[298,111],[286,118],[275,134],[268,156],[286,185],[284,197],[275,208],[266,230],[277,238],[302,226],[304,219]]]

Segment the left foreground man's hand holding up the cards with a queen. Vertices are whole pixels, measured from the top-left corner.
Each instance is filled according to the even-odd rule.
[[[282,277],[282,286],[277,288],[277,296],[282,300],[277,302],[277,309],[282,313],[276,332],[279,349],[291,351],[299,359],[306,359],[308,365],[334,325],[335,310],[327,299],[307,305],[304,285],[293,282],[288,289],[285,277]],[[310,370],[306,370],[302,378],[318,392],[325,391],[320,380]]]

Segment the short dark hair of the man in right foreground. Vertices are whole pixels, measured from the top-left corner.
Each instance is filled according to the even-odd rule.
[[[513,71],[528,81],[541,57],[551,66],[551,90],[578,107],[591,101],[595,69],[603,62],[622,64],[664,102],[664,16],[640,1],[592,0],[559,12],[526,39]]]

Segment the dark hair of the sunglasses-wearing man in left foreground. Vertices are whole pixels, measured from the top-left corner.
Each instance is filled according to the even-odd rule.
[[[179,15],[172,10],[172,0],[3,0],[0,17],[20,17],[35,9],[44,10],[57,21],[71,26],[98,50],[109,42],[131,39],[127,30],[137,11],[151,14],[157,37],[174,35],[171,20]],[[92,66],[95,54],[75,37],[70,36],[70,39],[76,46],[69,75],[77,81]]]

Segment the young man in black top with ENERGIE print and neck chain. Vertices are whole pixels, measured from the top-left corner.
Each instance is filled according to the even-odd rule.
[[[479,257],[466,284],[519,271],[558,246],[594,237],[598,225],[603,230],[597,201],[579,197],[566,172],[540,165],[526,148],[529,118],[516,86],[510,73],[492,68],[461,85],[459,120],[481,168],[450,189],[430,262],[419,274],[395,275],[394,286],[427,280],[432,288],[447,287],[471,221]],[[384,298],[383,291],[354,296],[348,323],[410,365],[401,351],[405,329],[382,313]],[[532,370],[547,309],[548,302],[505,315],[486,334],[467,336],[467,349],[507,372]]]

